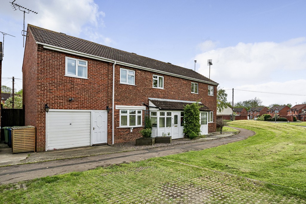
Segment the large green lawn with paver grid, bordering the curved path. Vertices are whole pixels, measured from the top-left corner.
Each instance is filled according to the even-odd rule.
[[[305,128],[229,124],[256,135],[203,151],[1,185],[0,203],[306,203]]]

